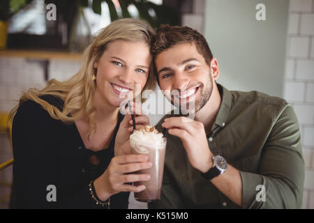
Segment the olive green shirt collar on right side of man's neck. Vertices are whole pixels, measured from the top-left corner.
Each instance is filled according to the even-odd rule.
[[[230,112],[231,100],[232,100],[232,95],[230,91],[225,89],[225,87],[223,87],[221,84],[217,84],[217,86],[218,86],[218,91],[221,97],[221,105],[220,105],[214,125],[211,128],[211,130],[214,130],[214,128],[216,128],[216,125],[220,127],[225,127],[225,125],[227,124],[226,121]]]

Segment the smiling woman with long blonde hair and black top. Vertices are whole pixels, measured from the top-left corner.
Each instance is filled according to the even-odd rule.
[[[13,118],[11,208],[128,208],[130,174],[151,167],[147,156],[130,155],[129,114],[119,105],[135,85],[151,88],[151,35],[142,20],[105,27],[84,52],[81,70],[66,82],[50,80],[30,89],[10,113]],[[135,107],[135,106],[133,106]],[[135,117],[137,128],[149,123]]]

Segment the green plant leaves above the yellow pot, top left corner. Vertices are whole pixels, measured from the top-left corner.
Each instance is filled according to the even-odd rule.
[[[8,21],[20,9],[31,3],[32,0],[1,0],[0,1],[0,20]]]

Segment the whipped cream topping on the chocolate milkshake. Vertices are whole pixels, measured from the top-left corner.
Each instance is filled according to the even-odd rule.
[[[135,130],[130,135],[130,146],[137,153],[149,153],[149,149],[164,149],[165,138],[152,125],[145,125],[141,130]]]

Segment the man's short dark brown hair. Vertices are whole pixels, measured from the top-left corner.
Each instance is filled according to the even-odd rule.
[[[207,65],[210,66],[213,54],[211,54],[211,49],[209,49],[209,45],[201,33],[188,26],[170,26],[168,24],[162,24],[156,30],[156,36],[154,36],[153,44],[151,46],[155,73],[156,56],[158,56],[158,54],[163,52],[165,49],[169,49],[170,47],[181,43],[194,43],[197,52],[204,57]]]

